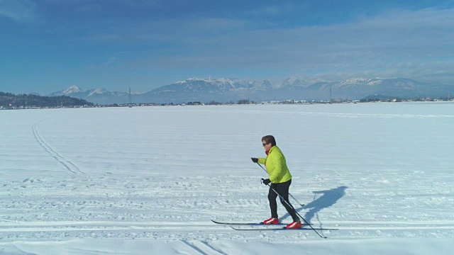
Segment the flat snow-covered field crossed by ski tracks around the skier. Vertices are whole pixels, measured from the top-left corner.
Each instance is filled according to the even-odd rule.
[[[454,250],[453,103],[0,111],[0,131],[0,254]],[[327,239],[211,222],[270,217],[263,135]]]

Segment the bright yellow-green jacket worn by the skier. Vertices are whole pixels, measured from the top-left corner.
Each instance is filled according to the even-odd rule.
[[[284,183],[292,179],[284,154],[277,146],[271,147],[267,157],[259,158],[258,163],[265,164],[272,183]]]

